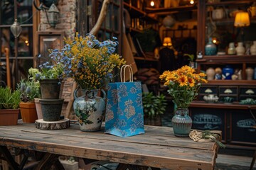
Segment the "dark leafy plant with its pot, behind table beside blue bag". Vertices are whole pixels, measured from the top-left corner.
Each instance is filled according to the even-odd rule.
[[[166,111],[167,101],[164,94],[142,93],[145,125],[161,125],[161,114]]]

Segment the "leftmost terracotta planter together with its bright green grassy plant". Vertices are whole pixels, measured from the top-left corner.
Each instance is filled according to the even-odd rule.
[[[11,91],[9,87],[0,86],[0,125],[17,125],[20,91]]]

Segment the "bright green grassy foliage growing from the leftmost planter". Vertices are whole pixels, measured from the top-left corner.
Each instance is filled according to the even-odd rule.
[[[21,102],[20,96],[20,91],[11,91],[9,87],[0,86],[0,109],[17,109]]]

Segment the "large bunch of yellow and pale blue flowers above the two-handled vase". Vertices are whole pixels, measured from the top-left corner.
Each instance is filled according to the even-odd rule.
[[[71,77],[81,89],[100,89],[113,78],[114,68],[125,63],[121,56],[114,53],[117,38],[100,42],[94,35],[85,38],[78,33],[72,40],[64,38],[61,51],[53,50],[52,55],[61,58],[64,77]]]

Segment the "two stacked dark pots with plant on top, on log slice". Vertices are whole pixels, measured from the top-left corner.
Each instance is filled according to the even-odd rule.
[[[49,62],[41,64],[40,69],[31,68],[29,71],[33,78],[40,82],[41,98],[39,103],[41,104],[42,118],[44,121],[53,122],[60,120],[62,111],[64,99],[59,95],[64,68],[58,52],[56,50],[49,50],[49,52]]]

